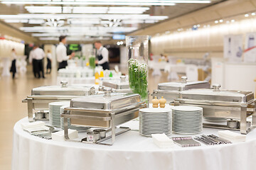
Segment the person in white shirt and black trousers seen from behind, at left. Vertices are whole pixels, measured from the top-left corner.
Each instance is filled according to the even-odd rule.
[[[43,58],[46,57],[46,54],[43,52],[43,49],[39,48],[38,45],[33,47],[33,50],[29,54],[29,62],[33,62],[33,72],[36,78],[40,79],[42,72],[42,77],[44,77],[43,72]]]

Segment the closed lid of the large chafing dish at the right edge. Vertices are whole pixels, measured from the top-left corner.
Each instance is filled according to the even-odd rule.
[[[247,103],[254,100],[254,94],[252,91],[220,90],[220,85],[213,85],[211,89],[190,89],[181,91],[180,98],[198,101]]]

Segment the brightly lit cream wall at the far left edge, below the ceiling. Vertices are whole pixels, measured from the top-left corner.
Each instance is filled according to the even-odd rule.
[[[0,58],[11,57],[11,50],[16,50],[18,56],[24,55],[25,45],[11,40],[0,40]]]

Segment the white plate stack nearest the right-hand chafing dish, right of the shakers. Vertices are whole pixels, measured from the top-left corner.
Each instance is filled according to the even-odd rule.
[[[203,108],[195,106],[172,107],[173,132],[196,134],[203,130]]]

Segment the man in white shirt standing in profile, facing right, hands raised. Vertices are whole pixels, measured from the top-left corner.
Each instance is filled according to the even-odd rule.
[[[56,48],[56,57],[58,62],[58,69],[64,69],[68,65],[68,60],[72,59],[75,56],[75,52],[72,52],[71,55],[67,55],[67,48],[65,43],[67,42],[65,36],[60,36],[60,43]]]

